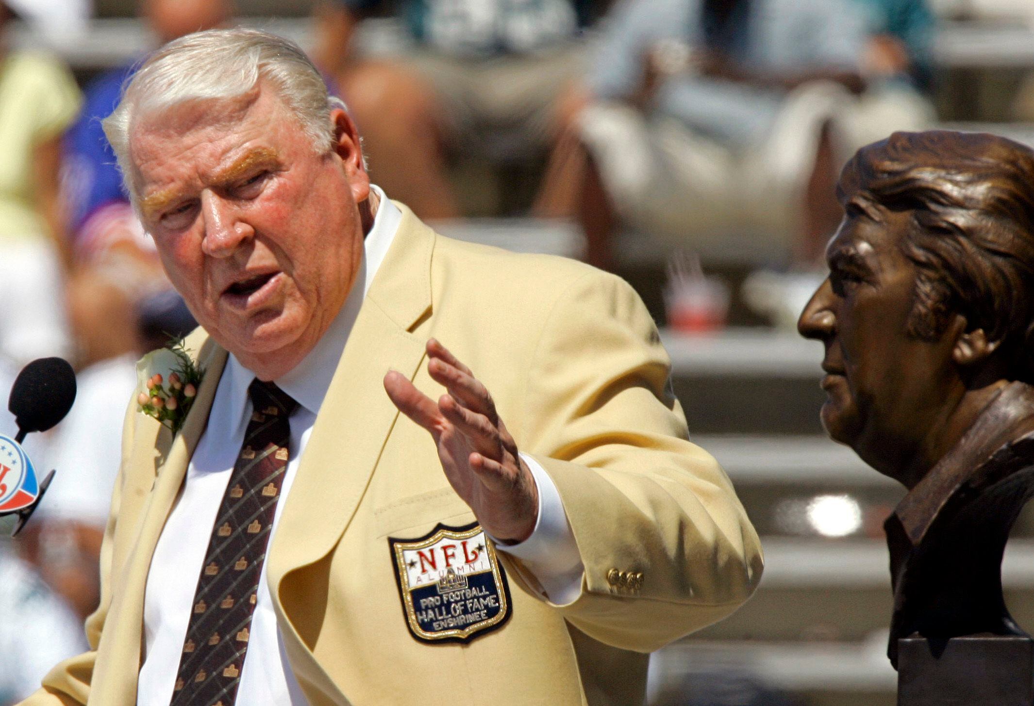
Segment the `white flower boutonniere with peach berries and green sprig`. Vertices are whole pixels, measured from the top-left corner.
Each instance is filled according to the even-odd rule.
[[[175,434],[190,411],[204,374],[183,347],[182,339],[152,350],[136,363],[140,410]]]

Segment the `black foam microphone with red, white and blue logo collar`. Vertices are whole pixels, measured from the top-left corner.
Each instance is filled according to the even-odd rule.
[[[54,480],[41,483],[22,441],[33,431],[47,431],[64,419],[75,401],[75,372],[61,358],[40,358],[22,369],[10,389],[7,408],[14,415],[18,436],[0,434],[0,515],[18,515],[10,535],[18,534],[39,507]],[[4,482],[6,479],[6,482]]]

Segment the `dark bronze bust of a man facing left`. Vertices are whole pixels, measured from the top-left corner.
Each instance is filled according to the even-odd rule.
[[[1002,597],[1034,494],[1034,151],[896,132],[844,167],[845,215],[802,336],[825,344],[822,422],[909,493],[884,527],[898,639],[1026,635]]]

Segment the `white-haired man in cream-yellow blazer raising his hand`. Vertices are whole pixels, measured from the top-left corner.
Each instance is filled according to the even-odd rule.
[[[176,40],[105,130],[204,374],[127,412],[94,651],[28,703],[639,703],[750,594],[638,297],[388,201],[297,47]]]

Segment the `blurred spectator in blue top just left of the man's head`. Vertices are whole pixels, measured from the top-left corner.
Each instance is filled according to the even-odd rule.
[[[161,44],[230,18],[230,0],[142,0]],[[65,136],[68,154],[64,186],[71,205],[77,270],[69,281],[69,314],[89,365],[136,348],[135,304],[169,288],[151,239],[144,233],[122,190],[115,154],[100,128],[118,103],[122,84],[135,62],[116,68],[87,87],[86,104]]]

